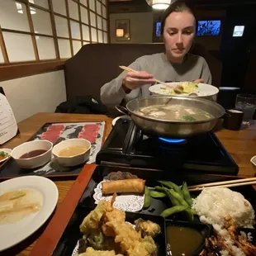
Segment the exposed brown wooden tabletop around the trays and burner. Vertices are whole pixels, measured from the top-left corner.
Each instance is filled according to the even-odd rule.
[[[13,149],[17,145],[29,140],[32,135],[35,135],[38,130],[45,123],[58,123],[58,122],[79,122],[79,121],[105,121],[106,132],[105,137],[111,132],[111,121],[112,119],[103,115],[85,115],[85,114],[63,114],[63,113],[37,113],[34,116],[27,118],[24,121],[18,123],[19,134],[16,135],[12,140],[9,140],[0,148]],[[250,159],[256,154],[256,121],[252,121],[250,126],[246,126],[241,130],[216,130],[216,135],[220,142],[225,146],[225,149],[230,153],[235,163],[239,166],[240,177],[252,178],[255,177],[255,170],[253,164],[250,163]],[[106,139],[105,138],[105,139]],[[75,182],[75,178],[54,178],[56,186],[59,190],[59,200],[57,208],[64,201],[67,196],[70,187]],[[1,183],[0,183],[1,186]],[[43,225],[40,230],[36,231],[34,235],[31,235],[28,239],[17,244],[12,249],[1,252],[1,255],[29,255],[31,250],[36,244],[36,240],[39,239],[45,230]]]

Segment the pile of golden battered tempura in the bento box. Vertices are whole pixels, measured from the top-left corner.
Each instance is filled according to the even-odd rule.
[[[126,222],[126,213],[112,206],[111,202],[99,201],[80,225],[83,233],[83,254],[79,256],[153,256],[156,245],[152,236],[141,236],[140,230]],[[141,221],[141,220],[140,220]]]

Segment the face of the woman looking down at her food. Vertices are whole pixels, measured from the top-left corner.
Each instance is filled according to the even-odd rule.
[[[196,20],[192,13],[172,12],[165,20],[164,44],[167,58],[176,63],[183,62],[195,36]]]

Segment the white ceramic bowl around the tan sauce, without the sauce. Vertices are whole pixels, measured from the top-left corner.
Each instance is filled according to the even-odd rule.
[[[72,146],[84,146],[84,147],[88,147],[88,150],[82,154],[77,154],[74,156],[59,156],[59,152],[62,149],[67,149]],[[60,164],[62,166],[75,166],[78,164],[83,164],[90,157],[91,142],[88,140],[84,140],[84,139],[64,140],[54,146],[52,153],[54,154],[55,159],[58,162],[58,164]]]

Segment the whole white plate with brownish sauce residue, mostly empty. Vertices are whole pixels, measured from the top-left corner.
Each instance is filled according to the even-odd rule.
[[[26,176],[0,183],[0,251],[20,243],[55,210],[58,188],[48,178]]]

